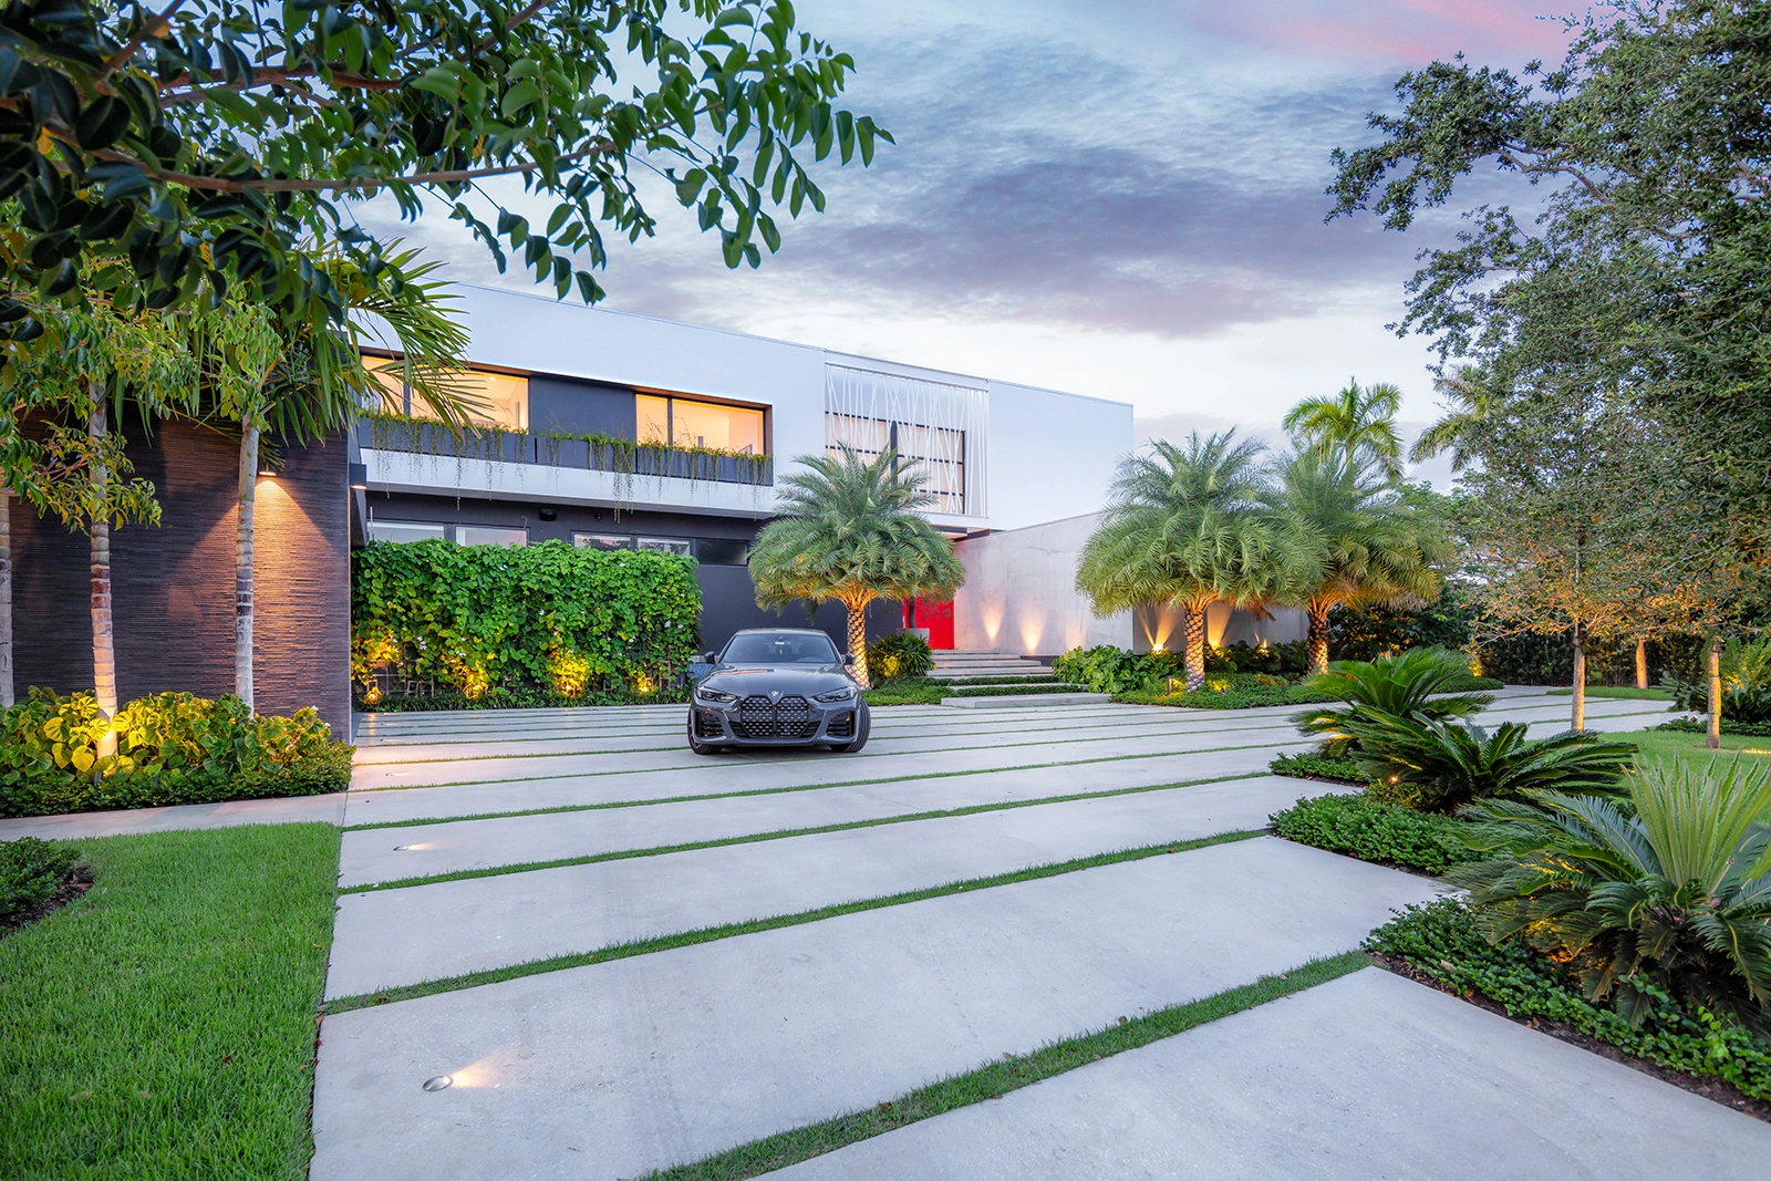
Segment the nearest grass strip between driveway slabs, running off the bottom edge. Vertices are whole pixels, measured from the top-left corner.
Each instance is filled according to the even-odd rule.
[[[744,1177],[786,1169],[802,1160],[824,1156],[861,1140],[871,1140],[877,1135],[896,1131],[933,1115],[971,1107],[972,1103],[1001,1100],[1009,1091],[1031,1087],[1036,1082],[1056,1078],[1114,1054],[1148,1046],[1153,1041],[1183,1034],[1188,1029],[1252,1009],[1268,1000],[1279,1000],[1305,988],[1326,984],[1328,981],[1371,967],[1371,956],[1358,951],[1312,960],[1289,972],[1263,976],[1252,984],[1229,988],[1203,1000],[1169,1006],[1130,1020],[1119,1018],[1118,1025],[1109,1025],[1093,1034],[1064,1038],[1032,1054],[988,1062],[963,1075],[953,1075],[900,1094],[889,1103],[806,1124],[804,1128],[793,1128],[792,1131],[779,1131],[689,1165],[659,1169],[645,1174],[639,1181],[742,1181]]]

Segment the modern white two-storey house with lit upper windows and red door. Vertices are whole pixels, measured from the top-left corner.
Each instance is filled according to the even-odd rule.
[[[1094,620],[1075,560],[1119,460],[1132,405],[715,328],[460,287],[491,432],[365,420],[360,540],[443,536],[664,549],[700,563],[703,637],[779,621],[756,607],[746,549],[799,457],[896,446],[921,464],[930,521],[971,570],[955,604],[916,604],[937,646],[1054,655],[1135,643]],[[388,382],[388,409],[411,413]],[[464,453],[466,452],[466,453]],[[825,614],[829,618],[825,618]],[[898,630],[900,604],[870,625]],[[802,621],[802,620],[793,620]],[[816,616],[841,634],[839,609]]]

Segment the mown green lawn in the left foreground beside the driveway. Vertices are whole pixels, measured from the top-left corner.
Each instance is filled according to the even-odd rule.
[[[338,830],[78,848],[92,889],[0,940],[0,1177],[305,1177]]]

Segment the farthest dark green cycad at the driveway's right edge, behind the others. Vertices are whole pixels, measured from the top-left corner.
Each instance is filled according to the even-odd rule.
[[[1348,724],[1365,712],[1433,721],[1481,712],[1495,699],[1493,694],[1435,696],[1449,694],[1452,685],[1468,676],[1468,660],[1445,648],[1410,648],[1378,660],[1335,660],[1326,673],[1311,676],[1305,689],[1334,694],[1346,705],[1311,706],[1291,721],[1302,733],[1323,740],[1323,754],[1346,758],[1357,745]]]

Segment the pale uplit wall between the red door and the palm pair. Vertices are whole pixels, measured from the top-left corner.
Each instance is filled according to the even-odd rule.
[[[1100,513],[972,536],[958,544],[965,586],[953,598],[956,648],[1057,655],[1132,646],[1132,613],[1096,620],[1077,593],[1077,558]]]

